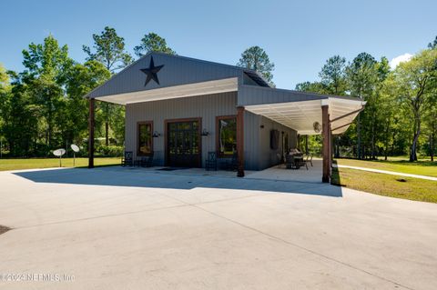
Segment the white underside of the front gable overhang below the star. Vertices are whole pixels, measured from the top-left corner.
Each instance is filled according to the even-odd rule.
[[[127,105],[195,95],[211,95],[238,90],[238,77],[219,79],[188,85],[174,85],[147,91],[96,97],[99,101]]]

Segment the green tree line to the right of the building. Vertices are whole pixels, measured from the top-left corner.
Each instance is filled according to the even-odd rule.
[[[367,102],[346,134],[335,136],[334,154],[360,159],[389,155],[433,156],[437,133],[437,37],[410,60],[391,69],[361,53],[347,63],[334,55],[320,80],[296,85],[300,91],[351,95]]]

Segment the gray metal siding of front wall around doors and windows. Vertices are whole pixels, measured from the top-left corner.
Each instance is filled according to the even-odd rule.
[[[202,129],[208,130],[208,136],[202,136],[202,166],[208,151],[216,150],[216,116],[237,115],[237,92],[215,95],[199,95],[187,98],[155,102],[129,104],[126,106],[126,150],[133,151],[137,158],[137,122],[153,121],[153,130],[160,136],[153,138],[153,149],[158,165],[165,162],[166,119],[202,118]],[[245,158],[246,168],[256,169],[258,163],[259,116],[245,114]],[[248,128],[248,129],[246,129]]]

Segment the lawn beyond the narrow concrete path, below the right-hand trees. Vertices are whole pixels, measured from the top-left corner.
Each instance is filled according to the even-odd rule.
[[[412,175],[427,175],[437,177],[437,161],[431,162],[428,160],[420,160],[417,162],[409,162],[403,158],[391,158],[388,161],[383,160],[355,160],[355,159],[337,159],[338,165],[360,166],[381,170],[396,171]]]

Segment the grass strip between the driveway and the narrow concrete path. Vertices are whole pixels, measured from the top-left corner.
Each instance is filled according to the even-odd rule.
[[[437,182],[431,180],[333,168],[331,184],[375,195],[437,203]]]

